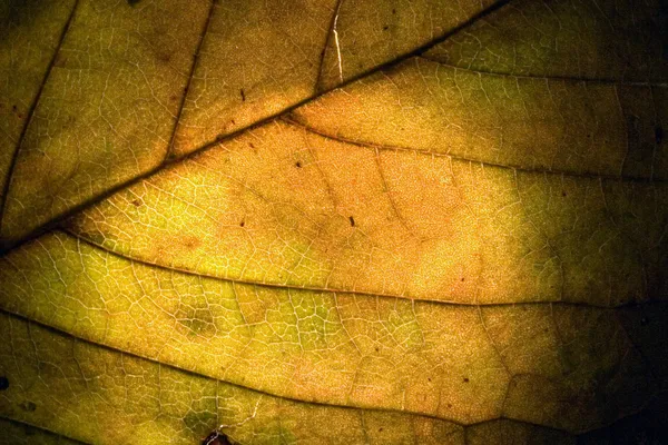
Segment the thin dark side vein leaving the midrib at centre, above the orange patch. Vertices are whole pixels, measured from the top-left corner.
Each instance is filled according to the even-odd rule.
[[[295,116],[282,116],[279,119],[288,125],[302,128],[305,131],[308,131],[313,135],[323,137],[328,140],[333,140],[335,142],[348,144],[348,145],[353,145],[353,146],[357,146],[357,147],[362,147],[362,148],[371,148],[374,150],[377,149],[377,150],[383,150],[383,151],[406,151],[406,152],[413,152],[413,154],[423,155],[423,156],[448,158],[448,159],[458,160],[458,161],[462,161],[462,162],[473,162],[473,164],[483,165],[487,167],[510,169],[510,170],[514,170],[514,171],[522,171],[522,172],[529,172],[529,174],[571,176],[571,177],[576,177],[576,178],[586,178],[586,179],[607,179],[607,180],[618,180],[618,181],[621,180],[621,181],[627,181],[627,182],[640,182],[640,184],[658,184],[658,185],[660,185],[660,184],[668,182],[668,180],[665,180],[665,179],[652,179],[652,178],[642,178],[642,177],[635,177],[635,176],[615,176],[615,175],[580,172],[580,171],[571,171],[571,170],[531,169],[531,168],[525,168],[525,167],[520,167],[520,166],[495,164],[495,162],[490,162],[487,160],[472,159],[472,158],[466,158],[464,156],[448,155],[448,154],[438,152],[438,151],[422,150],[422,149],[412,148],[412,147],[386,146],[386,145],[382,145],[382,144],[358,141],[358,140],[354,140],[354,139],[347,139],[347,138],[344,138],[341,136],[330,135],[327,132],[324,132],[322,130],[318,130],[316,128],[307,126],[307,125],[303,123],[302,121],[299,121]]]

